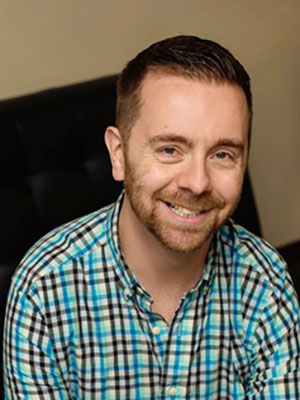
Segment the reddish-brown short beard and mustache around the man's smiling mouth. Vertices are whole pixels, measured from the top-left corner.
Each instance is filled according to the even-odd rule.
[[[135,172],[128,158],[125,158],[125,193],[130,206],[138,220],[144,227],[167,249],[178,253],[191,253],[208,244],[219,227],[232,215],[239,198],[234,202],[229,211],[218,218],[218,211],[226,206],[223,198],[212,196],[210,193],[196,195],[190,191],[170,192],[160,189],[154,192],[151,199],[146,202],[147,193],[145,179]],[[176,223],[166,218],[161,213],[161,204],[166,207],[176,205],[199,213],[207,212],[201,224]]]

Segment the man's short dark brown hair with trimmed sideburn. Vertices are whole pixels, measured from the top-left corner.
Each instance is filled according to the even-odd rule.
[[[252,121],[250,78],[244,67],[220,44],[197,36],[175,36],[152,44],[130,60],[117,83],[116,124],[126,142],[138,118],[142,82],[150,71],[186,76],[242,88]]]

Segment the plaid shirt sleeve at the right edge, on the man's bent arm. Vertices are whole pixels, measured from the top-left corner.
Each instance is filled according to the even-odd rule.
[[[299,302],[289,275],[275,287],[253,336],[248,399],[300,399]]]

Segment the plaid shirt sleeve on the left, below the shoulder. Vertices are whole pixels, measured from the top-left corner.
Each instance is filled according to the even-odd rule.
[[[51,338],[33,293],[12,285],[4,328],[5,399],[68,399]]]

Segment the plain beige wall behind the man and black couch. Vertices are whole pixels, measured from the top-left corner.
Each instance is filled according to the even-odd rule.
[[[264,236],[300,239],[299,0],[2,0],[0,98],[118,72],[151,42],[182,33],[219,41],[248,69]]]

